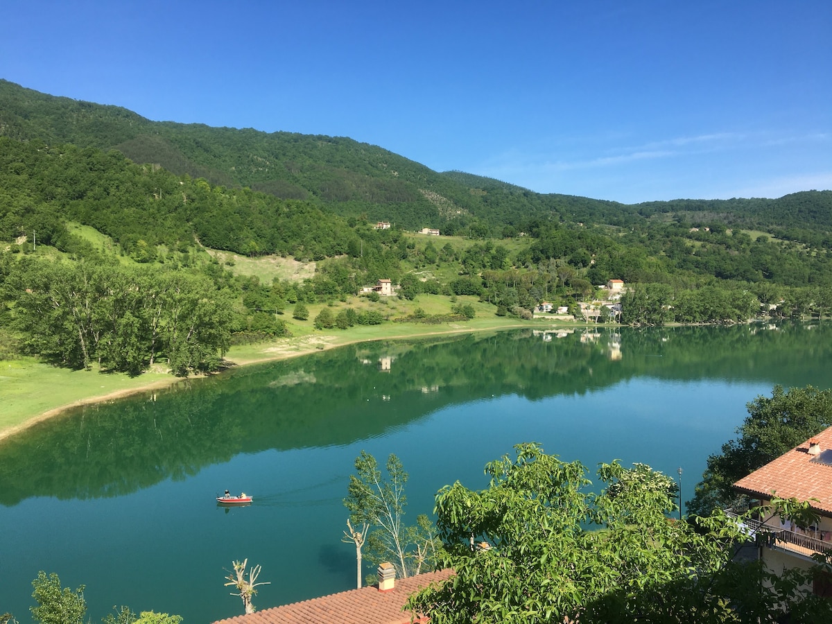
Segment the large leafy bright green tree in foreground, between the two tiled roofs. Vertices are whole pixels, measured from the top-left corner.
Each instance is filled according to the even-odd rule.
[[[442,563],[455,576],[409,600],[434,624],[770,622],[783,609],[805,622],[832,614],[812,595],[811,572],[777,577],[757,562],[733,562],[743,537],[735,520],[671,519],[670,477],[613,462],[599,466],[593,484],[579,462],[534,443],[515,448],[516,459],[488,463],[488,488],[457,482],[437,494]],[[779,504],[793,514],[807,509]]]

